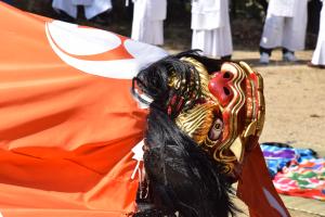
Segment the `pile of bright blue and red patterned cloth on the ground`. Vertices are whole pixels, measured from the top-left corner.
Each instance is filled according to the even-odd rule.
[[[325,201],[325,158],[308,149],[261,146],[277,192]]]

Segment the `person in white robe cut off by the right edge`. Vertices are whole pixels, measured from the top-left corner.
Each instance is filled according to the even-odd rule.
[[[310,66],[325,68],[325,1],[321,1],[323,2],[323,7],[321,11],[320,33]]]

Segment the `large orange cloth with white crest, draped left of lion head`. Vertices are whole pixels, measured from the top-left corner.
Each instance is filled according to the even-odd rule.
[[[130,79],[166,52],[1,2],[0,39],[0,216],[133,212]]]

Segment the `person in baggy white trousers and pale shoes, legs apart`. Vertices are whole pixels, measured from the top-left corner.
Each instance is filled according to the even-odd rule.
[[[260,63],[268,64],[272,50],[283,48],[283,60],[295,62],[304,49],[308,0],[270,0],[260,41]]]

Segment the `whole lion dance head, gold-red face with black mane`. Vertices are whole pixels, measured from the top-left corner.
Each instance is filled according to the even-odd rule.
[[[151,208],[138,215],[233,214],[231,183],[240,178],[245,153],[258,144],[264,123],[260,74],[244,62],[191,51],[141,71],[132,90],[150,105],[140,197]]]

